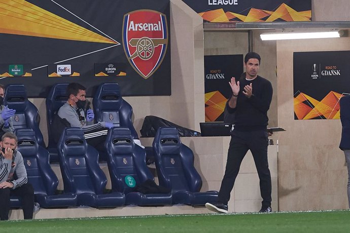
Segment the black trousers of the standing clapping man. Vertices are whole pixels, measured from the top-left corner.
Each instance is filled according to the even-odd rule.
[[[268,134],[266,130],[242,132],[233,130],[227,154],[225,175],[221,183],[220,203],[227,204],[239,172],[240,164],[250,149],[260,179],[262,206],[271,206],[271,175],[267,161]]]

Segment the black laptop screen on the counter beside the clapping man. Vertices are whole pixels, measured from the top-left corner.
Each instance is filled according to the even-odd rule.
[[[209,136],[230,136],[232,124],[223,122],[201,122],[200,134],[203,137]]]

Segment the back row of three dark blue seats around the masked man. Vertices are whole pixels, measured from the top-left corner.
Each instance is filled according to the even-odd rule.
[[[57,142],[53,139],[52,123],[58,109],[67,101],[66,88],[68,84],[54,85],[46,98],[48,147],[50,162],[58,162]],[[40,115],[38,108],[32,104],[26,96],[24,85],[9,85],[6,89],[4,104],[16,109],[14,116],[14,128],[33,129],[37,141],[45,146],[43,134],[39,129]],[[93,98],[95,121],[113,123],[115,126],[127,127],[131,130],[133,139],[138,139],[135,128],[132,125],[132,107],[121,96],[117,83],[100,84]]]

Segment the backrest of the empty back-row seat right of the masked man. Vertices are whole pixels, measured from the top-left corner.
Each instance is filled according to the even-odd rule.
[[[103,83],[97,88],[92,100],[95,120],[110,122],[115,126],[129,128],[133,139],[138,139],[132,125],[132,107],[122,96],[117,83]]]

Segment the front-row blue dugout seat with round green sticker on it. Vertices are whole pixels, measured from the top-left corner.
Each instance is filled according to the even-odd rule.
[[[112,190],[126,195],[126,205],[170,205],[170,193],[141,193],[134,191],[146,180],[154,180],[146,165],[145,149],[136,145],[125,127],[113,127],[107,137],[108,168]]]

